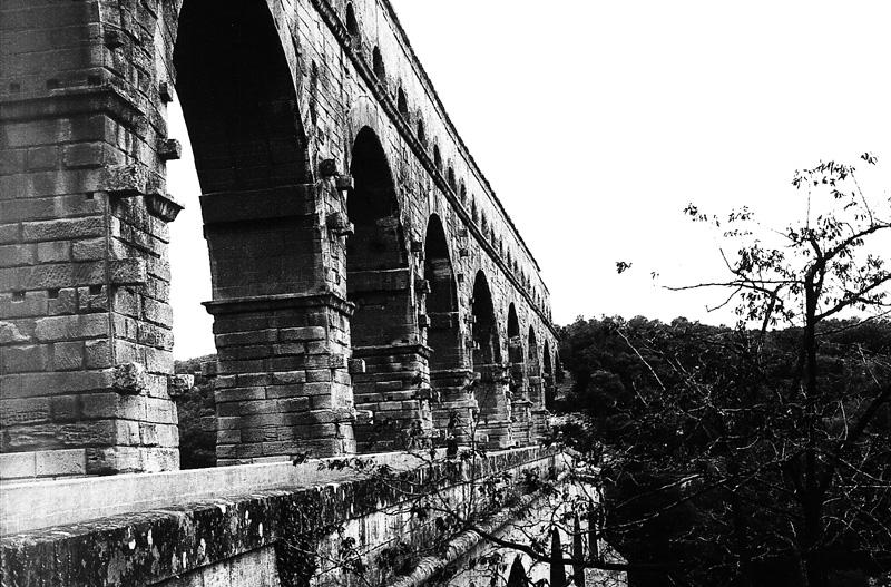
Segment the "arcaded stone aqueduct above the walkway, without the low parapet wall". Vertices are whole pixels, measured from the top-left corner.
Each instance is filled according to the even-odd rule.
[[[544,431],[548,290],[385,0],[2,0],[0,51],[3,478],[178,468],[173,99],[222,464],[390,450],[474,410],[464,440]]]

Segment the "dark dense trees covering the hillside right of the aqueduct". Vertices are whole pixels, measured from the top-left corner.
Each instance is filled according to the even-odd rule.
[[[882,405],[891,323],[828,321],[817,346],[819,421],[805,421],[800,329],[757,332],[637,317],[578,320],[561,355],[575,379],[565,437],[601,459],[606,537],[637,586],[799,585],[804,471],[817,447],[828,496],[820,551],[829,584],[889,567],[891,418]]]

